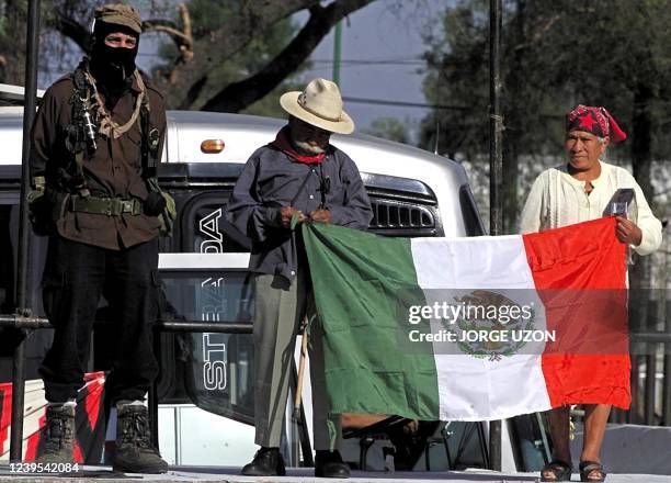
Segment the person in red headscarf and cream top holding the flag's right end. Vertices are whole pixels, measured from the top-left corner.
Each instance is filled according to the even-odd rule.
[[[601,217],[607,211],[615,191],[630,188],[636,196],[636,213],[629,214],[632,220],[616,216],[615,236],[638,255],[651,254],[661,244],[661,223],[650,211],[634,177],[627,170],[601,159],[609,143],[621,143],[626,139],[626,134],[604,108],[578,105],[568,113],[566,121],[565,149],[568,162],[538,176],[522,210],[521,232],[542,232]],[[611,394],[607,402],[585,404],[593,401],[590,401],[589,394],[583,393],[581,401],[567,401],[565,406],[549,411],[554,459],[543,469],[542,481],[570,481],[570,404],[583,404],[585,408],[580,480],[605,479],[600,451],[611,406],[626,409],[632,402],[629,358],[619,359],[613,361],[613,377],[603,382],[609,385],[606,392]]]

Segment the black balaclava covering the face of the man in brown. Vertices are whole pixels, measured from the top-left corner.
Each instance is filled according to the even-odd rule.
[[[114,32],[133,35],[137,38],[135,48],[110,47],[105,37]],[[105,98],[107,109],[112,109],[118,98],[133,83],[135,58],[139,47],[139,35],[134,30],[115,23],[98,20],[93,29],[93,47],[91,49],[91,74]]]

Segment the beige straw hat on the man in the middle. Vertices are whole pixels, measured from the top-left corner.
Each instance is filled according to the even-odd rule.
[[[283,94],[280,105],[289,114],[322,130],[339,134],[354,132],[354,121],[342,110],[340,89],[330,80],[314,79],[303,92]]]

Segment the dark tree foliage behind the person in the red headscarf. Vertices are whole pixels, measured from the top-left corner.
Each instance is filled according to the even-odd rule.
[[[443,15],[444,37],[425,54],[427,98],[462,109],[441,111],[441,151],[484,158],[489,146],[489,12],[460,0]],[[507,0],[501,46],[504,115],[504,214],[514,229],[518,160],[560,159],[564,114],[578,103],[604,105],[629,139],[609,156],[632,162],[652,199],[650,162],[669,158],[671,1]],[[432,146],[435,114],[422,126]]]

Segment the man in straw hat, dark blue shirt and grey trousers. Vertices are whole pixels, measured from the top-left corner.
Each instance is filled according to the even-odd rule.
[[[315,475],[348,478],[338,448],[339,415],[329,414],[321,353],[321,327],[314,317],[307,258],[298,223],[333,223],[365,229],[371,202],[354,162],[329,144],[332,133],[350,134],[354,123],[342,110],[338,86],[315,79],[280,104],[288,124],[274,142],[247,161],[226,217],[252,242],[249,270],[255,277],[255,442],[261,446],[246,475],[282,475],[280,440],[288,371],[304,316],[310,325]]]

